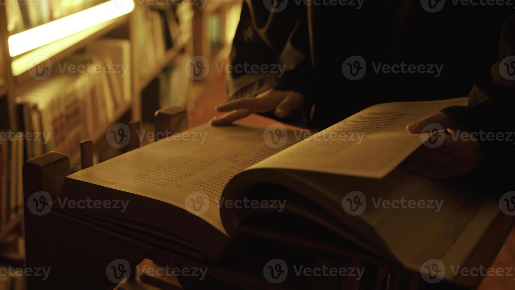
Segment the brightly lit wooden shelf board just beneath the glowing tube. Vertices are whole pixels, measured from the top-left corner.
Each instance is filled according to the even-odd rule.
[[[56,64],[57,62],[73,55],[77,50],[106,35],[106,33],[113,29],[127,24],[129,19],[130,13],[15,57],[12,60],[12,73],[14,76],[17,76],[18,83],[30,80],[30,76],[26,71],[27,65],[33,58],[42,55],[47,56],[52,64]]]

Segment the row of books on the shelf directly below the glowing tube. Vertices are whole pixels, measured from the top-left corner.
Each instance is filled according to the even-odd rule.
[[[77,157],[80,142],[112,124],[131,100],[130,43],[100,39],[84,53],[52,64],[52,74],[15,89],[27,158],[49,151]],[[39,137],[39,138],[36,138]]]

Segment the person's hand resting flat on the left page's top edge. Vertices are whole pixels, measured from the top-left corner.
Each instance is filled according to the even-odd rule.
[[[211,120],[211,125],[228,125],[252,113],[265,113],[272,110],[275,111],[276,116],[284,118],[292,110],[300,108],[302,104],[304,104],[304,96],[297,92],[270,89],[255,98],[237,99],[216,107],[218,112],[228,113],[220,117],[214,117]]]

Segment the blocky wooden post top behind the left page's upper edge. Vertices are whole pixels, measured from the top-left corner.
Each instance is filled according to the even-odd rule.
[[[175,132],[182,132],[188,128],[188,114],[186,109],[178,106],[156,111],[156,141],[164,139]]]

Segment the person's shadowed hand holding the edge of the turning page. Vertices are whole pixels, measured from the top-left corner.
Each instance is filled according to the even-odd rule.
[[[483,152],[477,138],[460,138],[461,133],[467,131],[445,113],[421,118],[406,126],[406,129],[416,134],[431,124],[439,124],[445,129],[437,137],[443,137],[443,143],[435,148],[420,146],[406,159],[406,170],[432,179],[444,179],[467,174],[483,161]]]

